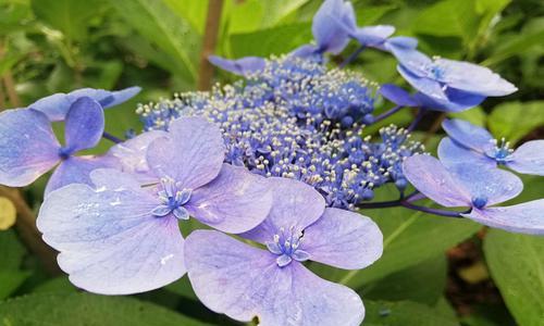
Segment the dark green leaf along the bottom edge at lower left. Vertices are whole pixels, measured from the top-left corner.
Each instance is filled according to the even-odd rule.
[[[128,297],[40,293],[0,302],[2,325],[194,326],[205,325],[159,305]]]

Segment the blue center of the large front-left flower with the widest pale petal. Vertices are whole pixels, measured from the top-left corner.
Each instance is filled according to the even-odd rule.
[[[183,205],[190,200],[191,192],[190,189],[182,189],[180,183],[171,177],[161,178],[160,190],[157,193],[161,204],[154,208],[151,213],[157,217],[173,213],[178,220],[189,220],[189,213]]]

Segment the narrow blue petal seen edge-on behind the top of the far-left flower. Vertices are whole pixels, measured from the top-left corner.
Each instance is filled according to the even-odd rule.
[[[129,100],[140,90],[141,88],[137,86],[116,91],[95,88],[81,88],[69,93],[59,92],[42,98],[28,105],[28,108],[45,113],[50,121],[63,121],[70,108],[72,108],[72,104],[83,97],[91,98],[100,103],[103,109],[108,109]]]

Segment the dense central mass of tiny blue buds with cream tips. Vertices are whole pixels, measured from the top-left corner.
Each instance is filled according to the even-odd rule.
[[[360,137],[374,100],[374,86],[358,74],[286,57],[267,61],[244,84],[182,93],[137,112],[147,130],[203,116],[221,128],[227,163],[301,180],[329,206],[354,210],[386,183],[404,189],[400,165],[423,150],[395,126],[382,128],[380,140]]]

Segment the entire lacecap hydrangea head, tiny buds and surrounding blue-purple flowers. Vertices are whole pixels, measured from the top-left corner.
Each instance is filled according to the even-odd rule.
[[[210,58],[243,79],[140,105],[144,133],[126,141],[104,133],[103,110],[137,87],[81,89],[2,112],[0,184],[27,186],[58,165],[37,226],[71,281],[88,291],[137,293],[187,274],[203,304],[237,321],[359,325],[359,296],[305,266],[360,269],[381,256],[382,234],[357,209],[398,204],[544,234],[544,200],[493,206],[523,187],[498,167],[544,175],[544,141],[514,150],[457,120],[443,125],[440,160],[409,139],[424,111],[468,110],[516,88],[485,67],[430,59],[417,40],[394,32],[358,27],[349,2],[325,0],[312,22],[314,43],[269,60]],[[416,92],[331,68],[327,53],[341,53],[351,39],[360,47],[343,66],[366,48],[391,52]],[[380,96],[396,106],[375,115]],[[406,106],[420,111],[407,129],[391,125],[379,137],[362,136]],[[51,128],[59,121],[64,145]],[[76,155],[101,137],[116,143],[100,156]],[[369,203],[387,183],[400,199]],[[417,191],[404,196],[408,183]],[[413,203],[423,198],[467,210]],[[184,239],[178,223],[189,218],[212,229]]]

